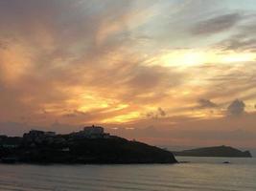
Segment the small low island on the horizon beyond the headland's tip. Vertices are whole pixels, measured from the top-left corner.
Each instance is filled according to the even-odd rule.
[[[251,158],[249,151],[241,151],[230,146],[204,147],[198,149],[175,151],[175,156],[187,157],[224,157],[224,158]]]

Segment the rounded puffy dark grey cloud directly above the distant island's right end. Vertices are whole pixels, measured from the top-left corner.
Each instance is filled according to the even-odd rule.
[[[240,117],[245,113],[244,109],[244,101],[236,99],[227,107],[227,116]]]

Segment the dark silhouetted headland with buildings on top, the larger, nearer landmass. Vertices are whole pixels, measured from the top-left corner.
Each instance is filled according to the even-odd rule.
[[[0,136],[0,161],[14,163],[175,163],[164,149],[104,133],[91,126],[68,135],[32,130],[22,138]]]

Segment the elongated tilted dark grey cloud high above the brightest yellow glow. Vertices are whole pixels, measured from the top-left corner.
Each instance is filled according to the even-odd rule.
[[[243,16],[239,13],[220,15],[198,22],[198,24],[191,29],[191,32],[197,35],[224,32],[234,27],[242,18]]]

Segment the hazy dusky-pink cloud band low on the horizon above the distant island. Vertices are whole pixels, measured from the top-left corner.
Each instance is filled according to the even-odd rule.
[[[120,124],[112,134],[126,136],[158,145],[232,145],[255,147],[256,114],[241,117],[199,119],[189,117],[161,117],[155,120]],[[172,123],[173,122],[173,123]],[[126,131],[126,127],[134,128]]]

